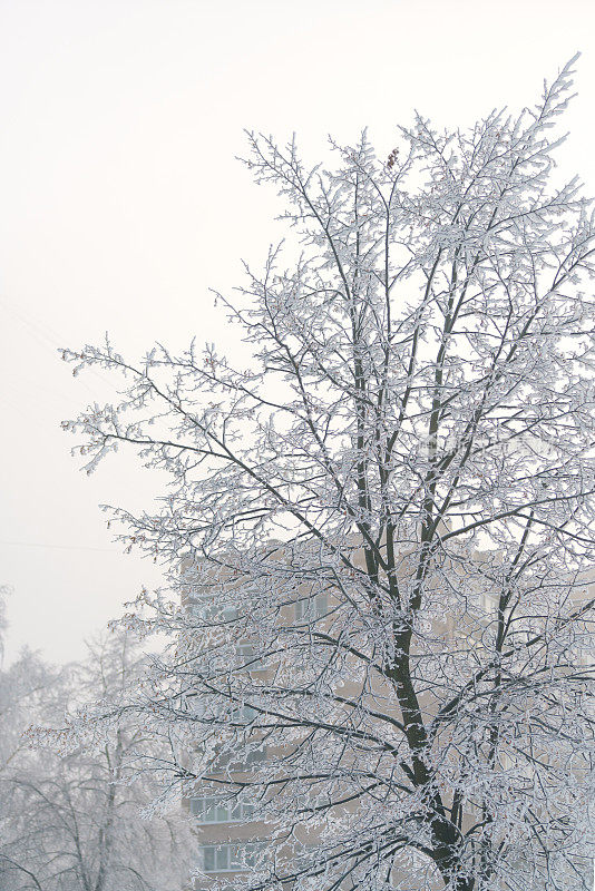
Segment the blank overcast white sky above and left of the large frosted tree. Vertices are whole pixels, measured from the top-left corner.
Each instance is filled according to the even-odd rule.
[[[368,125],[380,151],[413,108],[440,124],[537,99],[576,50],[560,153],[595,193],[591,0],[0,0],[0,582],[8,657],[77,658],[155,568],[125,557],[99,502],[155,482],[126,461],[87,479],[60,421],[114,390],[57,347],[108,331],[225,341],[208,287],[276,237],[273,195],[234,158],[243,128],[296,130],[315,159]]]

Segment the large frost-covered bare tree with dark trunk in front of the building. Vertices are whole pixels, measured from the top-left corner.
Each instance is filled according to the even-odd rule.
[[[299,249],[218,295],[245,366],[65,352],[123,379],[65,423],[87,469],[129,447],[169,476],[162,506],[114,509],[169,567],[136,613],[169,648],[129,707],[187,794],[253,809],[234,888],[587,887],[594,218],[552,129],[572,63],[518,115],[417,116],[388,158],[364,134],[308,168],[248,135]]]

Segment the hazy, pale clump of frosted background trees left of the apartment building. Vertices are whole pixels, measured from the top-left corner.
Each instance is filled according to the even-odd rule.
[[[181,814],[142,815],[159,784],[149,772],[138,779],[136,763],[158,761],[155,742],[137,725],[100,726],[79,711],[86,698],[113,703],[140,665],[138,648],[118,634],[60,672],[26,653],[0,674],[2,891],[183,887],[192,839]],[[42,726],[33,732],[32,723]]]

